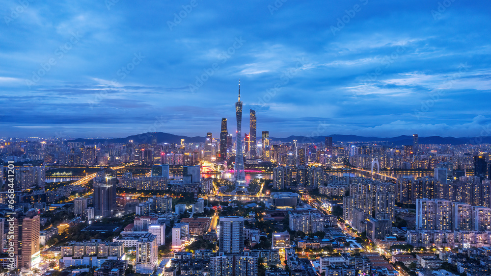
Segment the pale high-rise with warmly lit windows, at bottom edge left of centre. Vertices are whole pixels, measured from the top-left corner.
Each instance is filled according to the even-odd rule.
[[[157,237],[147,233],[136,243],[136,273],[152,274],[157,267],[159,247]]]

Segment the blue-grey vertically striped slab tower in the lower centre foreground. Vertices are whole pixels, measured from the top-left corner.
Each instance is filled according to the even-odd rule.
[[[240,254],[244,251],[244,218],[220,217],[219,250]]]

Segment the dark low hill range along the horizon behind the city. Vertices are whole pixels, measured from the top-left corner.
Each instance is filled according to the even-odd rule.
[[[75,139],[69,142],[84,142],[86,144],[95,144],[95,143],[128,143],[130,140],[133,140],[134,143],[144,144],[151,143],[152,138],[157,137],[157,143],[181,143],[181,139],[184,139],[186,143],[200,143],[205,141],[205,137],[202,136],[184,136],[184,135],[174,135],[165,132],[147,132],[137,135],[131,135],[125,138],[113,138],[113,139]],[[274,138],[270,137],[273,141],[281,141],[281,142],[293,142],[293,140],[299,141],[299,143],[319,143],[324,142],[327,136],[316,136],[316,137],[307,137],[307,136],[289,136],[286,138]],[[334,143],[339,142],[386,142],[387,145],[401,146],[401,145],[412,145],[412,136],[409,135],[401,135],[397,137],[388,137],[388,138],[380,138],[380,137],[364,137],[357,135],[340,135],[334,134],[330,135],[332,137],[332,141]],[[261,139],[260,137],[258,140]],[[430,137],[419,137],[419,144],[440,144],[440,145],[462,145],[462,144],[477,144],[479,143],[488,143],[491,144],[491,137],[479,137],[479,138],[468,138],[468,137],[440,137],[440,136],[430,136]]]

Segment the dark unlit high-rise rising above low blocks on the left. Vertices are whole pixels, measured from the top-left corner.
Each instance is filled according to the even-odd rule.
[[[97,179],[97,180],[96,180]],[[116,177],[105,176],[94,179],[94,215],[110,217],[116,210]]]

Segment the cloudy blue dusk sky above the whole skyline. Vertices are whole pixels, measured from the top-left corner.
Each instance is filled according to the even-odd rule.
[[[489,1],[0,6],[0,137],[491,135]]]

